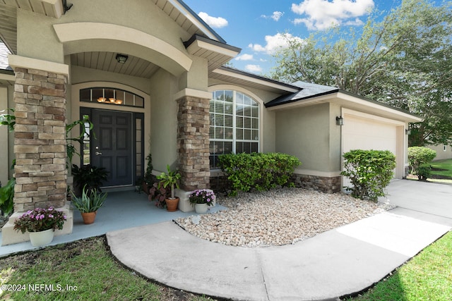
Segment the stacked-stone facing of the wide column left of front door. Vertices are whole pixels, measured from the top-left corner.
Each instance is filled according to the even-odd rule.
[[[66,75],[16,68],[14,210],[66,200]]]

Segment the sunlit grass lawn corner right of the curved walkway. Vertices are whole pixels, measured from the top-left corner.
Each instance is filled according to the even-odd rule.
[[[452,232],[352,300],[452,300]]]

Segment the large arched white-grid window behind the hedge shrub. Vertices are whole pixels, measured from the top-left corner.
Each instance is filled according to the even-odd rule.
[[[210,168],[218,155],[258,152],[259,104],[233,90],[217,90],[210,100]]]

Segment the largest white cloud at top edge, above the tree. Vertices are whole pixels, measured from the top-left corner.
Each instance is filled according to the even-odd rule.
[[[304,0],[292,4],[292,11],[307,16],[296,18],[295,24],[303,23],[309,30],[324,30],[333,25],[362,25],[358,17],[369,13],[374,6],[374,0]]]

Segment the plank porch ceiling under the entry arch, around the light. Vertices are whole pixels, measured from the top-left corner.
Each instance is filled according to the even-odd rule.
[[[139,78],[151,78],[160,68],[149,61],[131,55],[128,55],[129,58],[126,63],[118,63],[116,55],[116,52],[81,52],[71,54],[71,63],[75,66],[137,76]]]

